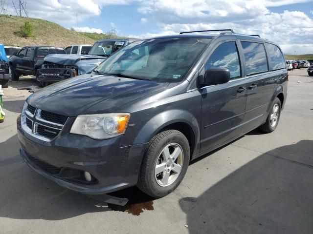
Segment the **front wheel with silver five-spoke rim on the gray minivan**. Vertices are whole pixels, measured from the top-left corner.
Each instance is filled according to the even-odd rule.
[[[166,155],[170,160],[165,160],[166,148],[169,149],[169,155]],[[172,160],[174,157],[176,158]],[[137,187],[145,194],[156,198],[172,193],[185,176],[189,159],[189,142],[181,132],[167,130],[157,134],[151,139],[145,151]],[[157,166],[161,164],[164,164],[164,169],[163,165]],[[161,172],[156,175],[157,169]]]

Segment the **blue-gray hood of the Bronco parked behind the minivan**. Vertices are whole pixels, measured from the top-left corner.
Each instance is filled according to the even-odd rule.
[[[106,57],[97,56],[97,55],[60,55],[60,54],[53,54],[47,55],[45,57],[46,62],[52,62],[56,64],[61,64],[65,66],[72,66],[75,65],[77,62],[81,60],[87,59],[107,59]]]

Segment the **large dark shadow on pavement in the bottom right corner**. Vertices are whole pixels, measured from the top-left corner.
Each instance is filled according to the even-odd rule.
[[[312,234],[312,152],[313,140],[279,147],[199,197],[181,198],[189,233]]]

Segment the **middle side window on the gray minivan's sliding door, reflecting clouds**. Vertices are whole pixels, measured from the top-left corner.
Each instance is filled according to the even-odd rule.
[[[257,42],[242,41],[246,61],[246,75],[253,75],[268,71],[268,61],[264,45]]]

